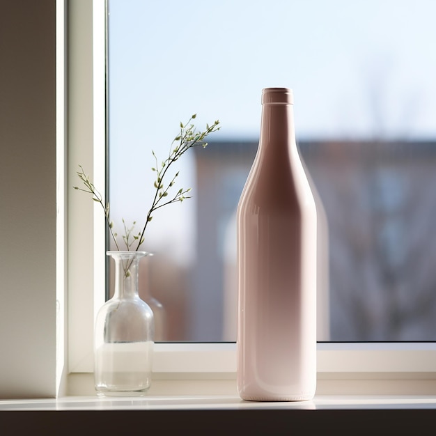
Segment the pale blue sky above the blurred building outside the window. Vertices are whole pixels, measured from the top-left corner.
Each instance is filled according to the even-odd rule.
[[[109,7],[116,217],[136,204],[129,213],[142,222],[150,150],[165,157],[192,113],[198,125],[219,118],[219,139],[257,139],[267,86],[293,88],[297,139],[436,138],[436,1],[110,0]],[[192,155],[184,159],[187,187]],[[171,207],[180,221],[162,214],[152,247],[156,238],[186,249],[194,203]]]

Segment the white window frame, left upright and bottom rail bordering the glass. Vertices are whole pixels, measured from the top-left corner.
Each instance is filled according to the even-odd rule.
[[[61,0],[62,1],[62,0]],[[68,5],[68,185],[77,165],[104,186],[104,0]],[[68,193],[70,373],[93,372],[93,322],[104,301],[104,221],[99,205]],[[235,343],[157,343],[156,377],[235,377]],[[318,343],[318,379],[436,380],[436,343]]]

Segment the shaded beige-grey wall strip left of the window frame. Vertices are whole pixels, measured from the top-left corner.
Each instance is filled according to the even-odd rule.
[[[0,398],[56,396],[56,1],[0,13]]]

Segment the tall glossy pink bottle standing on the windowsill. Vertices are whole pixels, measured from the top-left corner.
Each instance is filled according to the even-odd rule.
[[[316,390],[316,205],[295,143],[293,92],[265,88],[260,141],[238,204],[238,392]]]

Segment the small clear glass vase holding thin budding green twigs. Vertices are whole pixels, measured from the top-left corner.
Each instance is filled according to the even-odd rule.
[[[107,251],[115,260],[114,297],[98,311],[94,379],[98,395],[141,396],[151,384],[153,311],[138,293],[139,260],[145,251]]]

